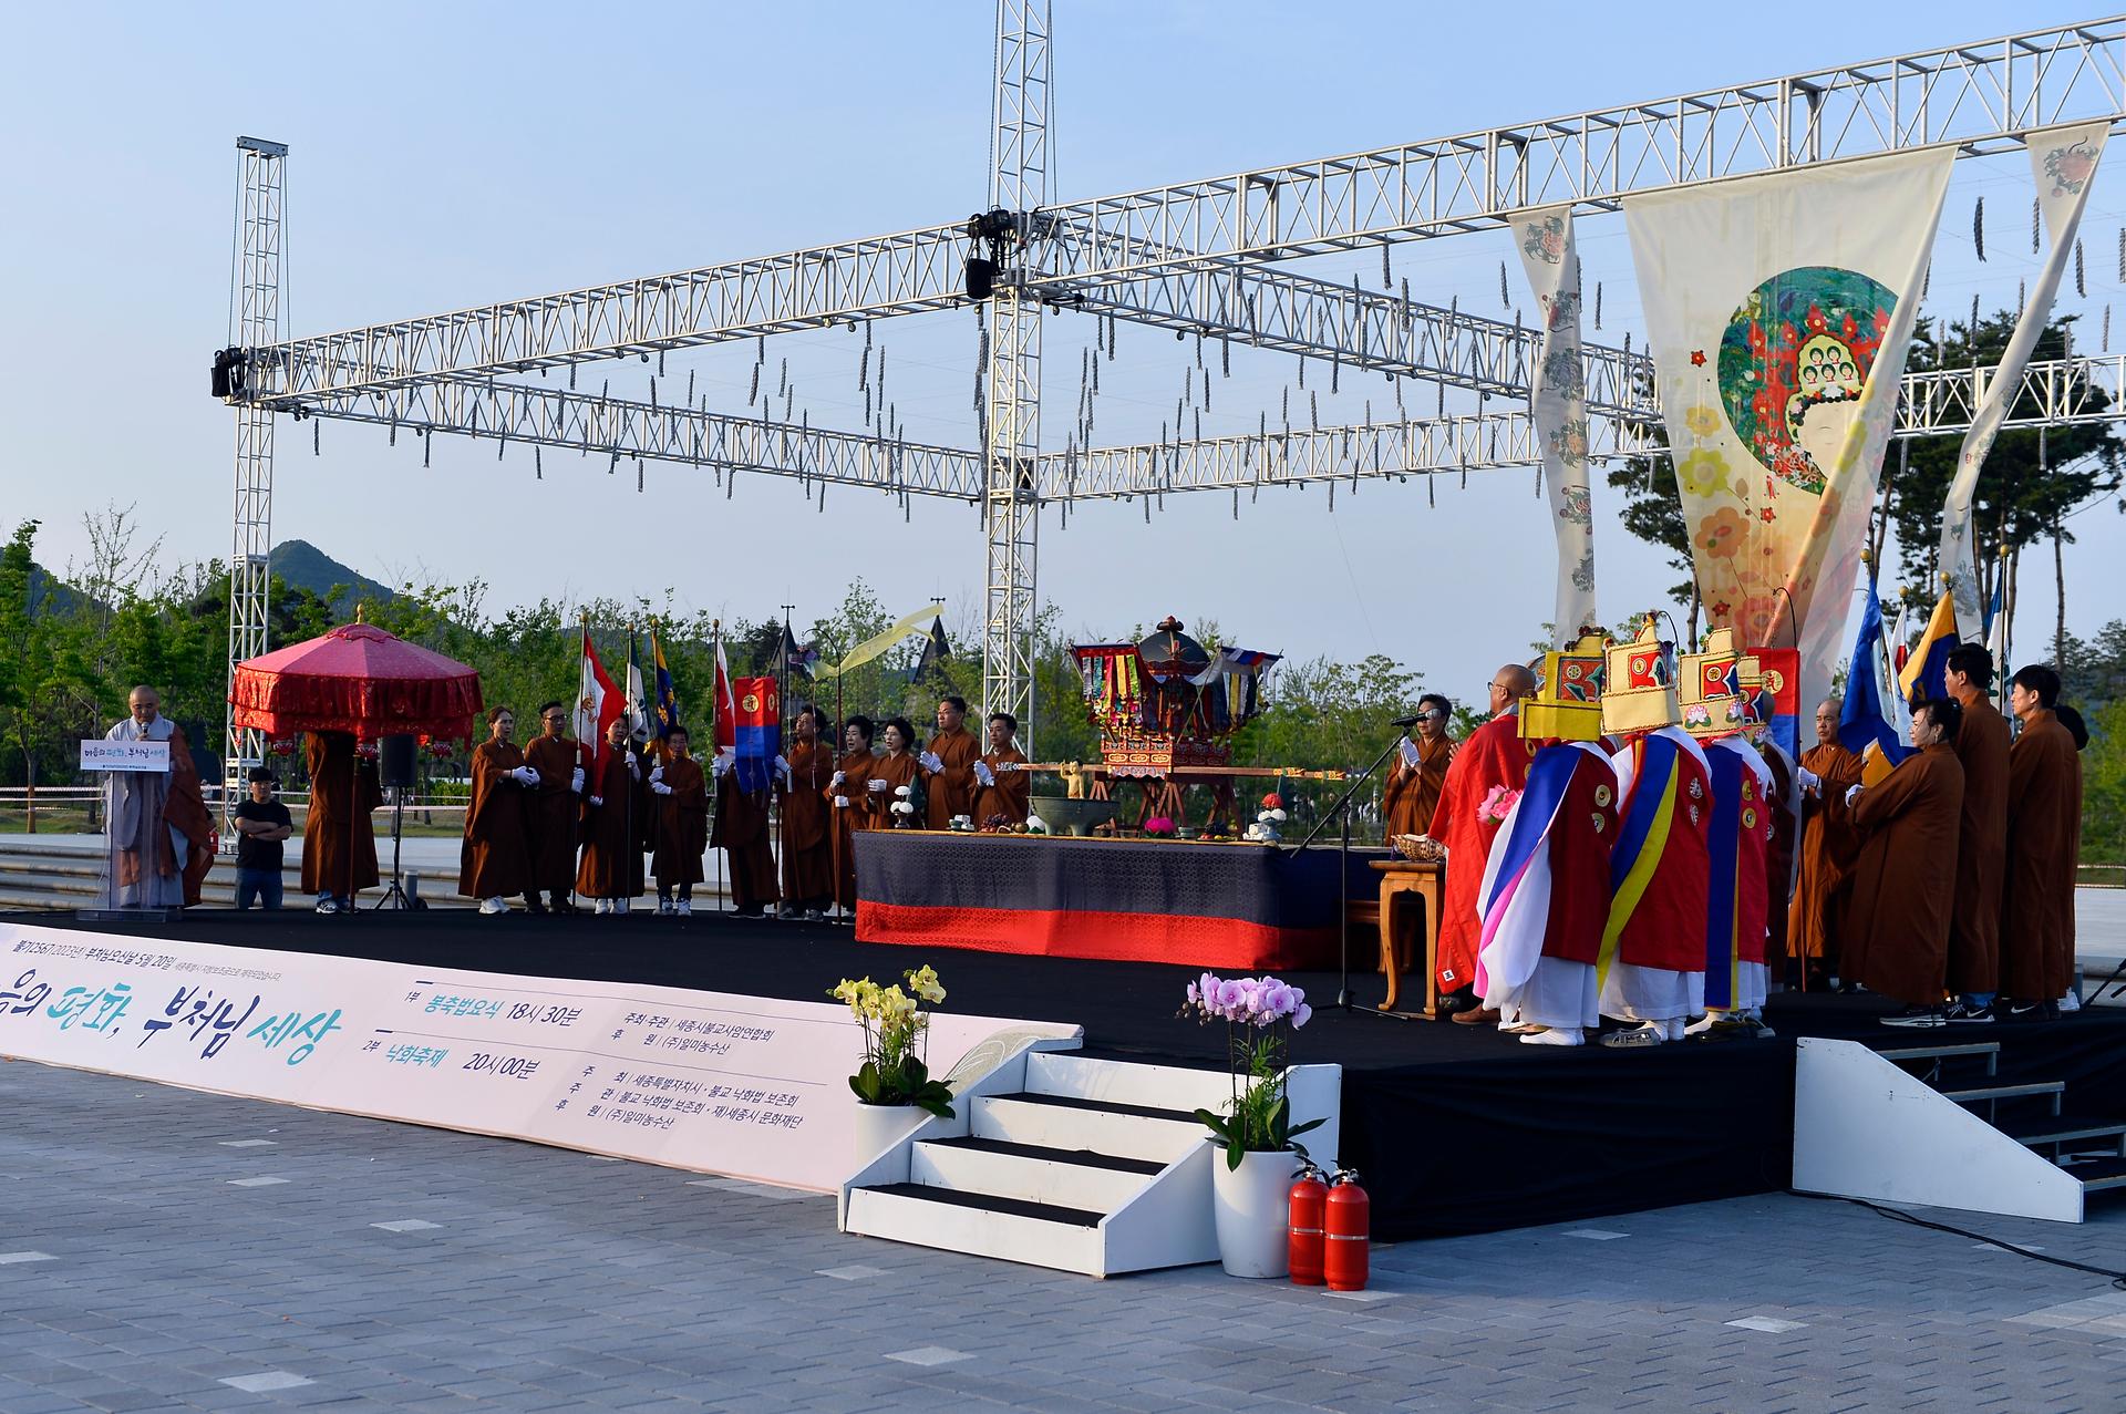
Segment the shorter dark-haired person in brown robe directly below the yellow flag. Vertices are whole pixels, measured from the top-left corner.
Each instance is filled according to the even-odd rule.
[[[1962,708],[1935,697],[1911,710],[1918,751],[1879,785],[1852,787],[1860,859],[1847,910],[1845,976],[1903,1001],[1892,1027],[1939,1027],[1956,899],[1956,834],[1964,810],[1964,768],[1956,761]]]

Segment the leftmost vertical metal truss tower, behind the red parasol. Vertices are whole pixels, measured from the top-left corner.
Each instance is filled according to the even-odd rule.
[[[283,202],[287,145],[236,138],[236,270],[230,304],[234,349],[225,351],[230,376],[257,376],[255,359],[270,357],[285,336],[281,310]],[[272,551],[272,404],[236,400],[236,538],[230,546],[230,687],[236,663],[266,651],[268,555]],[[223,693],[227,695],[227,693]],[[221,751],[221,823],[244,797],[244,776],[266,759],[257,727],[238,727],[227,708]]]

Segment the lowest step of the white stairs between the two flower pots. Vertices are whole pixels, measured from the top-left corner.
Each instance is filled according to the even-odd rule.
[[[895,1182],[850,1189],[846,1229],[1029,1267],[1106,1276],[1106,1235],[1099,1216],[1076,1208],[982,1199],[952,1189]]]

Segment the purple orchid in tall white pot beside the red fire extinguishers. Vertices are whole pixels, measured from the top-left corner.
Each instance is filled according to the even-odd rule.
[[[1225,1114],[1197,1110],[1197,1121],[1225,1150],[1212,1165],[1212,1216],[1218,1259],[1231,1276],[1284,1276],[1284,1201],[1305,1148],[1295,1140],[1322,1125],[1295,1125],[1284,1093],[1293,1031],[1307,1025],[1307,993],[1273,976],[1220,978],[1205,972],[1188,982],[1184,1016],[1225,1023],[1233,1099]]]

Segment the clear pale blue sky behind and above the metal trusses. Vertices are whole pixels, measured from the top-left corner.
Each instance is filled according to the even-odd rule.
[[[436,313],[604,279],[676,270],[957,219],[984,200],[989,4],[283,6],[270,21],[189,6],[17,6],[0,60],[11,134],[15,276],[0,340],[0,519],[40,517],[43,557],[87,540],[81,515],[138,504],[164,557],[227,553],[230,413],[206,395],[227,321],[234,138],[289,142],[289,313],[300,334]],[[1618,15],[1629,15],[1618,23]],[[2013,6],[1847,6],[1835,26],[1748,19],[1697,4],[1057,4],[1059,198],[1208,176],[1597,104],[1650,100],[1928,45],[2009,23],[2088,17]],[[2113,157],[2117,162],[2122,157]],[[1988,196],[1990,255],[1971,253]],[[1928,308],[2013,304],[2028,253],[2020,155],[1962,162],[1937,242]],[[2126,291],[2113,240],[2126,176],[2098,179],[2086,217],[2096,315]],[[1643,342],[1620,217],[1580,225],[1586,281],[1605,293],[1594,338]],[[1418,298],[1501,313],[1503,234],[1399,247]],[[1335,274],[1322,268],[1322,274]],[[1371,264],[1378,274],[1378,259]],[[1516,300],[1518,270],[1516,270]],[[1505,315],[1512,317],[1512,315]],[[1067,321],[1065,321],[1067,323]],[[1050,325],[1057,327],[1057,325]],[[1076,402],[1089,330],[1050,336],[1054,438]],[[914,438],[972,444],[967,315],[882,323],[893,398]],[[2126,323],[2122,323],[2126,340]],[[2092,340],[2094,342],[2094,340]],[[814,425],[861,419],[861,340],[770,340]],[[1120,334],[1103,372],[1099,440],[1157,434],[1186,361],[1154,332]],[[674,359],[742,410],[750,349]],[[612,366],[644,395],[640,366]],[[602,378],[604,372],[587,372]],[[1293,359],[1239,355],[1205,432],[1254,425],[1293,385]],[[1318,381],[1310,381],[1318,383]],[[595,385],[595,383],[593,383]],[[1376,385],[1378,387],[1378,385]],[[716,398],[727,402],[716,404]],[[1352,421],[1354,395],[1346,393]],[[1324,408],[1327,415],[1327,408]],[[1295,417],[1295,421],[1299,421]],[[625,472],[491,442],[283,423],[276,538],[313,540],[378,576],[478,576],[489,604],[653,595],[765,617],[827,612],[863,574],[901,612],[942,595],[972,617],[982,542],[965,506],[897,508],[744,476],[731,500],[685,468]],[[1650,604],[1673,572],[1614,523],[1597,481],[1601,606]],[[2094,510],[2069,546],[2071,627],[2126,600],[2126,517]],[[1110,636],[1165,612],[1216,617],[1242,644],[1293,655],[1388,653],[1456,697],[1526,653],[1550,606],[1550,536],[1533,472],[1356,498],[1282,493],[1242,506],[1174,498],[1044,523],[1042,597],[1065,627]],[[2047,555],[2049,559],[2049,555]],[[2024,576],[2020,636],[2049,629],[2049,563]]]

